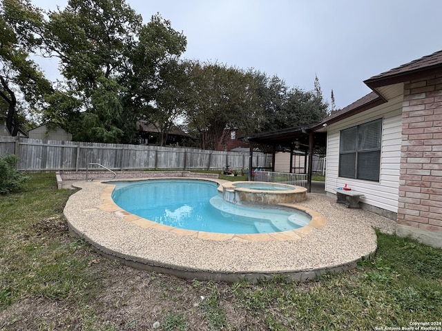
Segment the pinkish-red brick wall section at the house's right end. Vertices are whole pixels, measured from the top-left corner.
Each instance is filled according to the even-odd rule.
[[[442,232],[442,75],[404,86],[397,223]]]

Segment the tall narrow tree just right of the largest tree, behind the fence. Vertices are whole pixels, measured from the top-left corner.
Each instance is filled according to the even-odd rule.
[[[184,50],[186,37],[155,14],[140,31],[140,41],[130,57],[133,67],[127,81],[131,105],[126,106],[158,128],[162,146],[183,112],[186,64],[178,59]]]

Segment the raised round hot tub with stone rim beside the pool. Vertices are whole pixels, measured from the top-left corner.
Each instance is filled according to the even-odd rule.
[[[302,186],[267,183],[264,181],[233,181],[222,183],[222,198],[230,203],[299,203],[307,199],[307,188]]]

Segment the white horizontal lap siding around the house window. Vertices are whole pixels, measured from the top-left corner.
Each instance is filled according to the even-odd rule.
[[[327,171],[325,190],[336,193],[334,188],[347,185],[365,194],[362,202],[378,208],[398,211],[399,167],[401,162],[402,101],[397,97],[381,106],[356,114],[348,119],[330,124],[327,135]],[[338,177],[340,130],[383,118],[381,147],[381,177],[379,182]]]

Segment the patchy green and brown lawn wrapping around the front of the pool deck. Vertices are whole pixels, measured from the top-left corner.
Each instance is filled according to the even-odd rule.
[[[375,330],[442,321],[442,250],[378,233],[358,268],[297,283],[177,279],[100,257],[68,233],[73,190],[31,174],[0,196],[0,330]],[[442,327],[442,325],[435,325]],[[380,329],[378,329],[380,330]],[[415,328],[414,330],[417,330]]]

